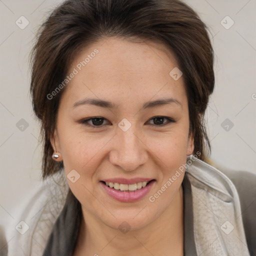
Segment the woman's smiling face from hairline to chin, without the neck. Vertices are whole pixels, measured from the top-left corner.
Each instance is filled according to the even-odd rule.
[[[184,81],[169,75],[174,67],[164,45],[119,38],[74,57],[51,144],[84,215],[138,229],[170,207],[184,173],[168,180],[193,151]],[[143,181],[150,182],[140,188]]]

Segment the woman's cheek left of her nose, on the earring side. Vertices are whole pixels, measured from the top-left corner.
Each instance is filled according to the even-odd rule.
[[[77,132],[70,133],[69,136],[64,133],[62,135],[61,154],[67,182],[72,193],[86,207],[100,209],[98,200],[95,200],[95,196],[96,198],[98,196],[94,185],[97,183],[98,166],[102,163],[100,150],[109,139],[104,137],[96,139],[88,134]],[[74,183],[68,179],[68,174],[73,169],[79,175]]]

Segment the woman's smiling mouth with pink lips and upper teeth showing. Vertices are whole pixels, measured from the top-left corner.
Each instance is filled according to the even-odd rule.
[[[137,183],[125,184],[101,180],[99,183],[104,192],[111,198],[121,202],[134,202],[142,199],[151,189],[155,179],[139,181]]]

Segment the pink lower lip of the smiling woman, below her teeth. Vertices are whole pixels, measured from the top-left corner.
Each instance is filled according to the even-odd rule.
[[[104,182],[100,181],[100,184],[105,189],[108,195],[121,202],[134,202],[144,197],[154,184],[155,180],[151,180],[146,186],[135,191],[120,191],[107,186]]]

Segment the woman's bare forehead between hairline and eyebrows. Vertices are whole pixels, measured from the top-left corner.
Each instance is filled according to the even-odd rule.
[[[183,77],[174,80],[169,74],[173,68],[177,61],[164,44],[102,39],[74,56],[67,75],[75,75],[62,98],[72,104],[93,96],[120,106],[165,96],[185,102]]]

